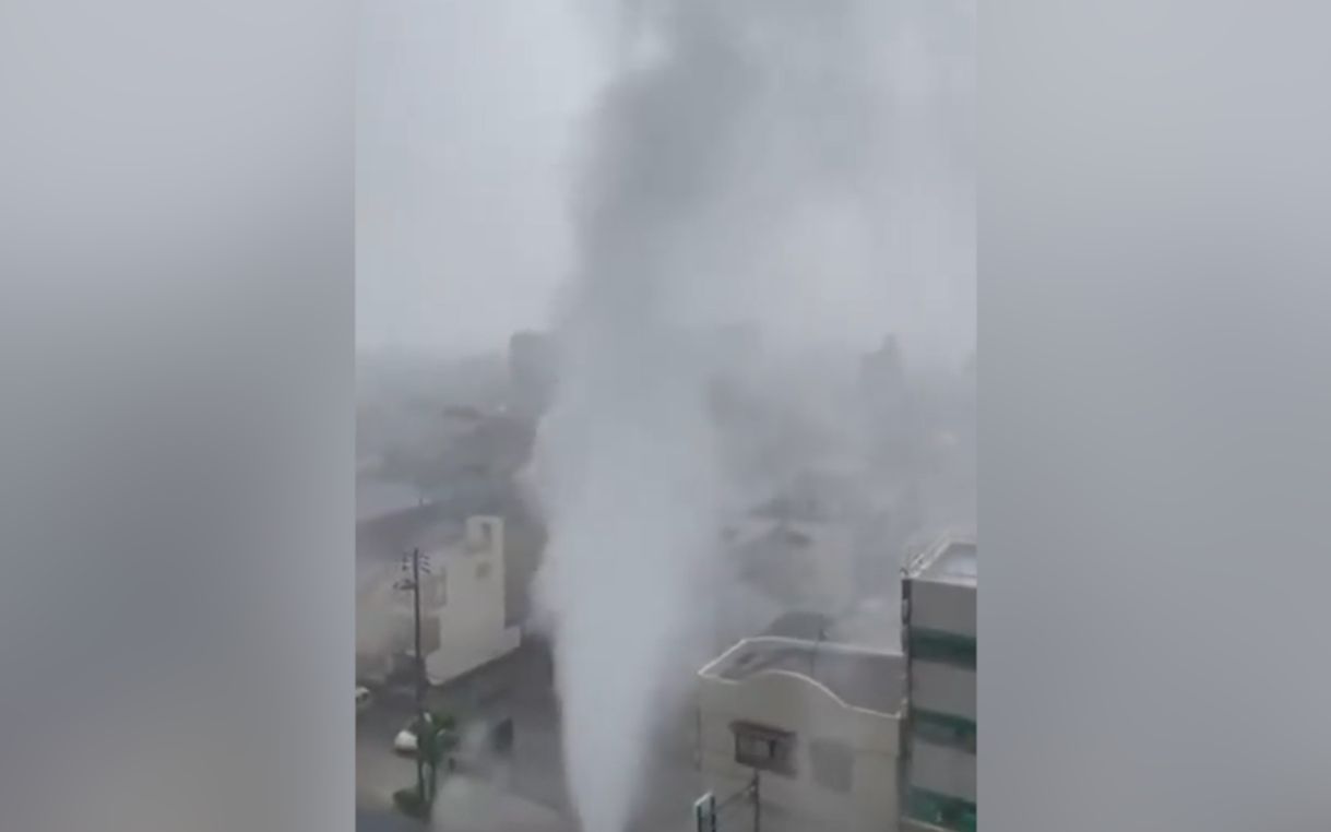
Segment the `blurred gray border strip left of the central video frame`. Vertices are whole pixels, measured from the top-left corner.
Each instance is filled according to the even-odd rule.
[[[358,5],[0,4],[0,828],[350,831]]]

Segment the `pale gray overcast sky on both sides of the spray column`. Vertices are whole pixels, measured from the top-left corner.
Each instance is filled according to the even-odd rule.
[[[732,182],[707,202],[719,216],[696,217],[703,237],[693,248],[705,249],[711,234],[712,248],[745,262],[712,257],[708,268],[720,273],[693,274],[688,285],[700,294],[679,288],[679,302],[704,318],[752,317],[800,339],[837,337],[865,349],[890,330],[908,355],[956,363],[969,351],[973,27],[956,13],[969,15],[973,1],[942,5],[865,7],[878,12],[862,33],[861,60],[872,65],[858,72],[878,97],[852,110],[862,113],[858,132],[828,121],[816,89],[807,100],[791,89],[781,93],[787,109],[772,110],[791,129],[755,133],[843,129],[840,153],[860,172],[861,198],[839,202],[801,188],[808,148],[796,148],[789,164],[769,160],[753,186]],[[591,117],[622,61],[635,60],[624,48],[640,40],[632,35],[640,27],[624,12],[642,8],[635,0],[363,5],[358,347],[502,349],[514,330],[550,322],[556,292],[576,268],[574,177],[590,161],[602,176],[612,170],[591,157]],[[849,63],[844,72],[852,72]],[[652,148],[662,165],[669,162],[668,145]],[[763,188],[775,192],[763,197]],[[788,217],[780,233],[756,232],[756,209],[773,200],[801,216]]]

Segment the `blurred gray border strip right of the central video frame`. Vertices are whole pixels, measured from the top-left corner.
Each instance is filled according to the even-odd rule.
[[[981,11],[988,832],[1331,828],[1328,23]]]

